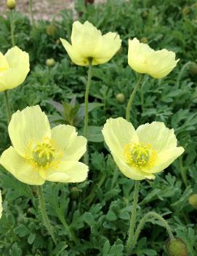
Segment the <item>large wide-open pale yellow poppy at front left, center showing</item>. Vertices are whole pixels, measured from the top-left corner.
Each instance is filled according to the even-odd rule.
[[[12,146],[0,163],[21,182],[42,185],[51,182],[83,182],[88,166],[79,159],[87,150],[87,139],[77,136],[71,125],[50,128],[39,106],[28,106],[12,115],[8,127]]]

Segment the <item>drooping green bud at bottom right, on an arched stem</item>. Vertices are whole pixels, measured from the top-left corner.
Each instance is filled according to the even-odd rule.
[[[188,256],[188,249],[181,238],[168,239],[166,242],[166,251],[169,256]]]

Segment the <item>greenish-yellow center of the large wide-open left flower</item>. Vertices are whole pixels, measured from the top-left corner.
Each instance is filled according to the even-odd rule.
[[[37,143],[36,148],[33,150],[33,160],[38,166],[45,167],[55,157],[55,148],[49,142]]]

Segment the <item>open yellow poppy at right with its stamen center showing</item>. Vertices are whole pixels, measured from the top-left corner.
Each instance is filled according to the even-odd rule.
[[[124,118],[110,118],[102,134],[118,168],[130,179],[154,179],[184,152],[177,147],[174,130],[161,122],[140,125],[135,131]]]

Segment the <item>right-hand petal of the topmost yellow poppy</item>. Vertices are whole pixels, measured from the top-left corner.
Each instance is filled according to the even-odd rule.
[[[100,44],[97,46],[93,59],[93,65],[110,61],[120,47],[121,39],[118,34],[109,32],[108,34],[103,35]]]

